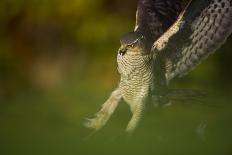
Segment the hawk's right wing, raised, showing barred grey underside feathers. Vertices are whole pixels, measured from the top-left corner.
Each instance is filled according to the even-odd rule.
[[[218,49],[232,32],[232,0],[192,0],[153,44],[166,58],[166,78],[182,76]]]

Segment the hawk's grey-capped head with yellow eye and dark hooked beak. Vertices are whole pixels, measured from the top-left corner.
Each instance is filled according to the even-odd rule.
[[[146,54],[146,37],[139,32],[129,32],[120,39],[121,47],[118,50],[120,55],[126,53],[143,55]]]

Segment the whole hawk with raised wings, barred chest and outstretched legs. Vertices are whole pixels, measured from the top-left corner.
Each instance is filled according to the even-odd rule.
[[[118,88],[85,125],[101,129],[124,99],[132,112],[126,131],[134,131],[145,104],[165,98],[170,80],[191,71],[231,32],[232,0],[191,0],[182,11],[180,0],[139,0],[135,29],[120,40]]]

